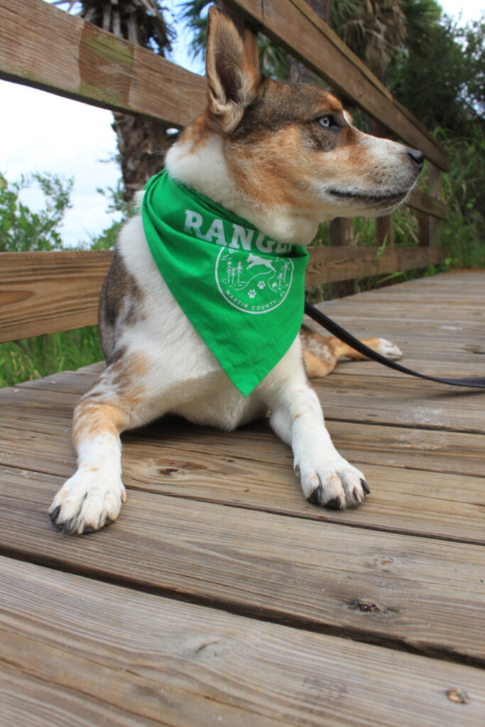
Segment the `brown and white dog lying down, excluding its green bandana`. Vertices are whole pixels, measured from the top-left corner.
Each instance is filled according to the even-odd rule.
[[[231,20],[209,13],[207,110],[167,153],[172,177],[273,239],[308,245],[322,220],[386,214],[411,190],[422,155],[351,125],[342,105],[311,85],[278,83],[252,68]],[[167,412],[233,430],[270,412],[292,446],[309,502],[353,507],[369,488],[334,448],[310,375],[361,358],[335,339],[303,332],[244,398],[185,317],[156,268],[140,214],[121,231],[103,287],[100,332],[107,367],[76,406],[78,470],[49,513],[65,533],[115,520],[126,494],[120,433]],[[398,348],[368,341],[389,358]],[[302,348],[305,349],[304,356]]]

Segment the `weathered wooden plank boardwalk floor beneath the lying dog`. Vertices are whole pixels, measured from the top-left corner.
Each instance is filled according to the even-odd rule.
[[[330,302],[404,363],[484,375],[485,271]],[[64,537],[100,364],[0,392],[0,724],[483,727],[485,393],[342,363],[327,425],[372,496],[308,505],[267,422],[124,435],[127,504]]]

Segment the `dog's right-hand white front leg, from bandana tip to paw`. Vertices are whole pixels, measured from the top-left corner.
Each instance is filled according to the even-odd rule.
[[[258,387],[271,410],[270,424],[292,447],[294,471],[308,502],[332,509],[355,507],[369,487],[364,475],[334,448],[301,358],[297,340]]]

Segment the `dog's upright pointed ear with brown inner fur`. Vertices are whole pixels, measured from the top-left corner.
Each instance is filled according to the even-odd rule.
[[[257,92],[261,75],[246,55],[236,26],[212,6],[207,28],[207,94],[209,112],[220,129],[231,133]]]

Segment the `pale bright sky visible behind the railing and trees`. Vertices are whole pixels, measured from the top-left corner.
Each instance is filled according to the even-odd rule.
[[[190,36],[175,21],[179,5],[180,0],[164,0],[167,20],[177,30],[170,60],[203,73],[201,61],[188,55]],[[441,6],[446,15],[461,15],[465,22],[480,17],[485,0],[441,0]],[[60,230],[66,246],[86,243],[119,218],[119,214],[105,211],[106,199],[96,191],[116,187],[120,177],[113,161],[116,136],[110,111],[8,81],[0,81],[0,106],[0,172],[9,182],[32,172],[74,177],[72,208]],[[38,209],[42,202],[39,189],[34,185],[25,190],[22,201]]]

